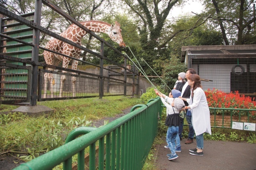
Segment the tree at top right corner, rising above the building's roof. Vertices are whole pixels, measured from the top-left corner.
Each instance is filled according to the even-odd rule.
[[[251,42],[248,40],[250,37],[248,35],[255,36],[255,28],[252,29],[252,24],[256,21],[252,9],[254,0],[204,0],[203,2],[206,12],[199,16],[207,17],[212,24],[220,26],[226,45]]]

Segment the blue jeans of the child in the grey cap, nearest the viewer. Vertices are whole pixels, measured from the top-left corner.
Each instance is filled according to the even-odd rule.
[[[175,138],[177,137],[177,134],[179,131],[178,128],[179,128],[178,126],[169,126],[166,133],[166,142],[169,146],[170,151],[172,152],[172,155],[176,155]]]

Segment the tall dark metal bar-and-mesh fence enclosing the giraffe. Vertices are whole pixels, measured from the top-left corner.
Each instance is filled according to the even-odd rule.
[[[91,51],[85,47],[78,45],[68,39],[63,38],[60,35],[42,27],[41,23],[41,9],[42,4],[45,7],[49,7],[53,11],[62,15],[65,19],[76,24],[88,34],[94,36],[100,41],[100,51]],[[13,65],[2,66],[1,69],[1,97],[0,103],[20,103],[30,102],[30,105],[36,105],[37,101],[44,100],[61,100],[70,98],[86,98],[114,95],[134,95],[138,94],[138,69],[135,66],[127,65],[127,57],[120,51],[111,46],[108,42],[89,31],[78,21],[71,18],[65,12],[61,11],[56,5],[52,4],[48,0],[38,0],[35,3],[35,12],[16,15],[8,11],[7,9],[0,7],[0,13],[7,18],[0,18],[0,61],[1,63],[11,63]],[[4,29],[7,28],[7,29]],[[94,65],[89,62],[82,61],[80,59],[72,58],[67,55],[57,53],[49,49],[45,49],[42,46],[38,46],[39,37],[43,35],[49,35],[52,38],[59,39],[69,45],[75,46],[78,49],[86,51],[91,55],[99,58],[100,64]],[[33,39],[32,39],[33,37]],[[104,56],[104,45],[117,53],[120,57],[124,58],[124,63],[116,63]],[[98,72],[91,73],[84,70],[72,70],[65,69],[58,66],[46,65],[45,63],[38,62],[39,49],[50,51],[55,54],[63,55],[64,57],[77,60],[88,66],[94,66]],[[104,61],[111,63],[111,66],[105,67]],[[24,72],[20,70],[26,67]],[[30,67],[30,68],[29,68]],[[48,70],[53,69],[53,71]],[[12,71],[8,71],[8,69]],[[18,86],[10,86],[13,84],[14,75],[12,80],[6,74],[9,72],[15,72],[16,83]],[[67,72],[67,73],[65,73]],[[49,81],[45,81],[44,75],[50,73],[53,74],[54,84]],[[26,75],[25,75],[26,74]],[[61,76],[66,76],[67,80],[64,82],[63,88],[60,87]],[[26,77],[26,83],[18,83],[21,79]],[[10,82],[7,82],[9,81]],[[76,80],[76,84],[73,87],[73,81]],[[21,82],[21,81],[20,81]],[[26,89],[25,89],[26,88]],[[62,93],[60,90],[63,90]],[[19,91],[19,93],[17,93]],[[62,95],[60,95],[62,94]],[[12,96],[12,97],[10,97]],[[14,96],[20,96],[17,100],[14,100]],[[21,97],[22,96],[22,97]],[[22,100],[21,100],[22,99]]]

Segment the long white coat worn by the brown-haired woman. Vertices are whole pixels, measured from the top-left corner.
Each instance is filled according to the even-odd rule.
[[[205,93],[202,88],[196,88],[193,93],[193,101],[190,95],[190,98],[187,99],[187,102],[190,106],[192,116],[191,121],[196,136],[203,134],[204,132],[207,132],[211,135],[210,110]]]

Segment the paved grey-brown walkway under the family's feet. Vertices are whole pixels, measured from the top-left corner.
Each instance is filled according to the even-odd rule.
[[[256,170],[256,144],[204,140],[204,155],[195,156],[189,154],[189,149],[196,148],[196,141],[185,144],[183,139],[179,157],[172,161],[166,156],[170,150],[163,146],[157,146],[156,164],[160,170]]]

